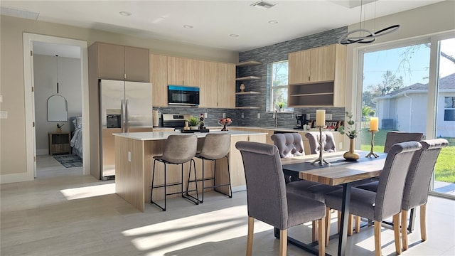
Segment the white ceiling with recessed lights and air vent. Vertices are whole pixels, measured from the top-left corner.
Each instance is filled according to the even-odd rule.
[[[365,1],[368,4],[365,4]],[[144,38],[245,51],[442,0],[256,1],[0,1],[2,14],[38,13],[38,21],[63,23]],[[354,6],[354,7],[352,7]],[[17,11],[18,9],[19,11]],[[131,16],[122,16],[127,11]],[[269,21],[278,21],[270,24]],[[183,28],[185,25],[193,28]],[[393,24],[390,24],[393,25]],[[231,37],[236,34],[238,37]]]

